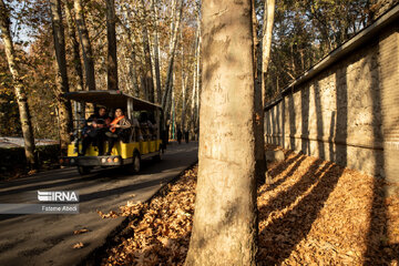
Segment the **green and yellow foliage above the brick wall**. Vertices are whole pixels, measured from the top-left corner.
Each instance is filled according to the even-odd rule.
[[[370,22],[369,2],[276,1],[266,89],[268,99],[366,27]],[[263,9],[258,7],[257,10],[258,18],[263,18]]]

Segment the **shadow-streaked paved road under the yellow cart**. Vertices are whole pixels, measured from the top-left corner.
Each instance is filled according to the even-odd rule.
[[[0,265],[75,265],[124,219],[102,219],[96,209],[117,211],[127,201],[149,200],[162,185],[197,161],[197,143],[174,144],[160,163],[143,162],[140,175],[99,170],[80,176],[75,168],[49,171],[0,183],[0,203],[38,203],[38,190],[79,191],[80,214],[0,214]],[[135,196],[133,196],[135,194]],[[88,228],[85,234],[73,231]],[[82,242],[83,248],[72,246]]]

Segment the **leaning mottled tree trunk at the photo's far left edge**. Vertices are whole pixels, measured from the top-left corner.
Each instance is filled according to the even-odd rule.
[[[4,43],[7,62],[12,74],[13,88],[20,113],[27,162],[30,168],[35,168],[38,165],[34,157],[34,137],[31,117],[29,114],[28,98],[21,74],[19,72],[19,65],[16,59],[16,52],[11,39],[10,13],[3,0],[0,0],[0,31],[1,39]]]

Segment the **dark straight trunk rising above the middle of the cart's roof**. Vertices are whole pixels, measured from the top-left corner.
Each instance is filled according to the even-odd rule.
[[[116,58],[116,34],[115,34],[115,4],[114,0],[106,0],[106,39],[108,59],[106,76],[108,90],[117,90],[117,58]]]

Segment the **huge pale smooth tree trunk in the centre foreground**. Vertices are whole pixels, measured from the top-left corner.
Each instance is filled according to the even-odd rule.
[[[186,265],[256,264],[250,12],[250,0],[203,1],[200,172]]]

